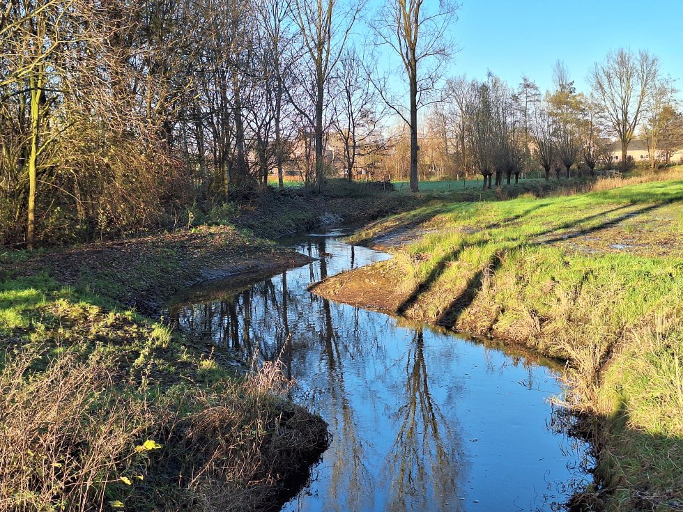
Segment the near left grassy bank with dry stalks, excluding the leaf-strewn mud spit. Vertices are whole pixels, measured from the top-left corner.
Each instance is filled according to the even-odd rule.
[[[279,368],[235,375],[116,307],[123,272],[96,275],[100,295],[0,276],[0,509],[241,511],[274,495],[324,449],[322,419],[284,399]]]

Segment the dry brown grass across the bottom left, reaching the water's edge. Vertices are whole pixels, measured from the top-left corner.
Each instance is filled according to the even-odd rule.
[[[282,366],[241,383],[124,386],[97,353],[35,352],[0,374],[0,510],[256,511],[328,445]]]

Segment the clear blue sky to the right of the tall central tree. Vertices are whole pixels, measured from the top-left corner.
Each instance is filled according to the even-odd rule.
[[[437,1],[437,0],[431,0]],[[525,74],[551,86],[557,59],[579,90],[610,49],[647,49],[661,70],[683,84],[682,0],[461,0],[452,37],[461,50],[450,75],[484,79],[491,70],[509,84]]]

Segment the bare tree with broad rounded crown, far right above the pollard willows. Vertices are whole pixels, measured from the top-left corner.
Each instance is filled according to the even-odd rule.
[[[621,143],[622,165],[627,162],[629,143],[658,74],[657,57],[643,50],[636,55],[623,48],[608,53],[605,61],[595,63],[590,71],[590,86],[602,104],[606,124]]]

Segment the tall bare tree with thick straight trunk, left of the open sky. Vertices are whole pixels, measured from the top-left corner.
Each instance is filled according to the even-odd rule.
[[[433,6],[433,8],[429,8]],[[441,78],[443,64],[450,58],[454,45],[446,36],[447,28],[456,19],[458,6],[450,0],[438,5],[425,0],[385,0],[384,6],[371,23],[378,43],[391,47],[400,56],[408,82],[408,114],[402,102],[385,90],[379,90],[387,105],[410,127],[410,189],[417,192],[417,111]]]

